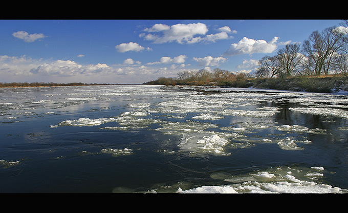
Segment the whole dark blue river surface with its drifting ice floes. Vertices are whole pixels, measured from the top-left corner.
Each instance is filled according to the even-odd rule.
[[[0,90],[2,193],[346,193],[346,95]]]

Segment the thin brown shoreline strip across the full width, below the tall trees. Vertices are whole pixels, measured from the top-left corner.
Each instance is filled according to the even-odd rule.
[[[165,85],[165,86],[214,86],[229,88],[254,88],[254,89],[273,89],[295,92],[317,92],[317,93],[348,93],[348,78],[345,76],[324,76],[324,77],[306,77],[294,76],[288,78],[245,78],[225,82],[192,81],[192,82],[159,82],[159,80],[145,83],[45,83],[45,82],[0,82],[1,88],[33,88],[33,87],[73,87],[73,86],[120,86],[120,85]]]

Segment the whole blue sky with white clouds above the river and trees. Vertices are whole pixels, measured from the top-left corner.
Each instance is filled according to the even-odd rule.
[[[338,19],[0,20],[0,82],[143,83],[181,71],[253,72]]]

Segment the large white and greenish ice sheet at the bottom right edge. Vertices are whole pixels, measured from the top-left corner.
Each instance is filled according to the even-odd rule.
[[[229,175],[216,172],[213,179],[221,179],[232,184],[216,186],[200,186],[183,190],[178,188],[177,193],[211,193],[211,194],[328,194],[348,193],[348,190],[328,184],[320,183],[324,176],[324,168],[318,167],[288,167],[280,166],[267,171],[255,171],[245,175]]]

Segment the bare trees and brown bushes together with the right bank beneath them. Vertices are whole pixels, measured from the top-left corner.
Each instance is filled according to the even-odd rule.
[[[144,84],[210,85],[308,92],[348,91],[348,20],[342,26],[314,31],[308,39],[287,44],[274,56],[258,60],[253,74],[183,71],[177,77],[159,77]]]

